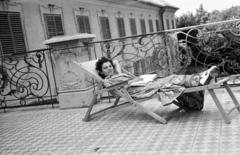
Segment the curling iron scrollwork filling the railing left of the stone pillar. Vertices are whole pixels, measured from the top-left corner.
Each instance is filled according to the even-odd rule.
[[[52,95],[44,52],[1,57],[1,108],[8,107],[5,101],[19,101],[19,104],[14,102],[14,106],[25,106],[34,99]]]

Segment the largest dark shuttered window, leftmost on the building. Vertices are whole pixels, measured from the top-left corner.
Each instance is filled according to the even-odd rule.
[[[26,51],[19,12],[0,11],[0,50],[0,55]]]

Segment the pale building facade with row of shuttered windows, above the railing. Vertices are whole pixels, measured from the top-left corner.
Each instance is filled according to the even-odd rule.
[[[76,33],[104,40],[175,28],[176,7],[158,0],[2,0],[2,54],[45,48],[44,40]]]

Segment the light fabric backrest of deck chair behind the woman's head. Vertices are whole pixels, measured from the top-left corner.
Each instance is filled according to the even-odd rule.
[[[93,76],[94,79],[97,81],[103,81],[103,78],[98,75],[98,72],[96,71],[96,63],[98,59],[96,60],[90,60],[86,62],[76,62],[73,61],[73,64],[76,65],[76,67],[82,68],[84,71],[86,71],[88,74]],[[115,69],[118,73],[122,73],[121,66],[117,60],[113,60],[113,64],[115,65]]]

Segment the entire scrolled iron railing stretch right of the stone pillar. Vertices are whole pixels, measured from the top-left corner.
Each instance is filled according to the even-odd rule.
[[[96,57],[120,60],[135,75],[196,73],[211,65],[240,73],[240,19],[92,42]]]

